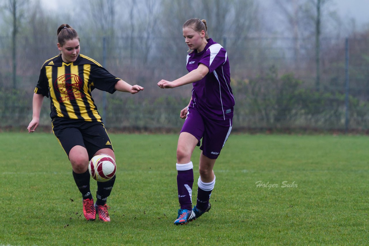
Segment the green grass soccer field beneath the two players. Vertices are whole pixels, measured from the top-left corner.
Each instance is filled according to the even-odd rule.
[[[173,225],[177,135],[110,137],[117,180],[103,223],[83,217],[54,135],[0,133],[0,245],[369,244],[367,136],[233,134],[214,167],[210,212],[183,226]]]

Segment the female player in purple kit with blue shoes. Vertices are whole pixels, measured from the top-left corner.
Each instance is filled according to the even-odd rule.
[[[177,145],[177,188],[181,208],[175,225],[187,224],[211,208],[209,199],[215,184],[213,167],[230,135],[235,104],[227,51],[208,37],[206,20],[192,18],[182,28],[184,41],[190,49],[186,65],[189,73],[172,82],[161,80],[158,83],[163,89],[193,84],[191,100],[180,112],[185,121]],[[196,206],[192,208],[191,156],[196,145],[201,150],[200,177]]]

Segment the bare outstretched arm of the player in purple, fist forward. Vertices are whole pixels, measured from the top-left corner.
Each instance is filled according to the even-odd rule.
[[[192,70],[191,72],[172,82],[163,79],[160,80],[158,86],[162,89],[183,86],[185,84],[190,84],[203,79],[203,77],[205,77],[205,75],[207,75],[208,72],[209,68],[204,64],[200,63],[197,69]]]

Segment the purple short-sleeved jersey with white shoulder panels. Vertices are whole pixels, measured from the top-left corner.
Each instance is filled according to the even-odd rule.
[[[196,50],[187,55],[187,70],[197,69],[199,63],[209,68],[209,73],[193,84],[192,101],[194,107],[207,118],[226,120],[233,117],[235,104],[230,85],[230,63],[227,51],[220,45],[207,39],[203,51]]]

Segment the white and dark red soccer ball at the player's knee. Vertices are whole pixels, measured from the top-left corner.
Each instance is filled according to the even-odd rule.
[[[115,161],[109,155],[96,155],[90,160],[89,172],[94,180],[106,182],[114,177],[115,170],[117,170]]]

